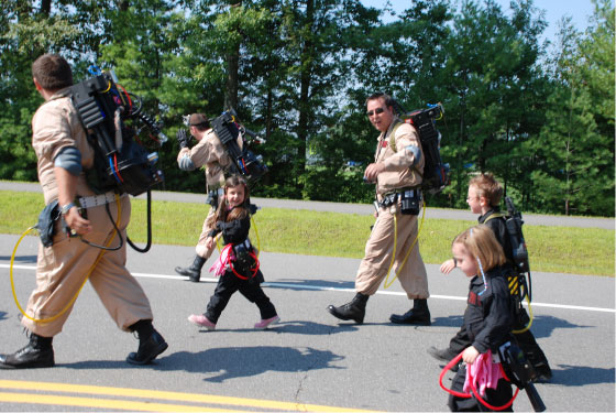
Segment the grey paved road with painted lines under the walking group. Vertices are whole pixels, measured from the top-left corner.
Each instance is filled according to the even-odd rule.
[[[18,238],[0,235],[2,352],[25,343],[9,282]],[[25,237],[16,253],[22,305],[34,285],[36,243]],[[129,249],[129,268],[169,343],[156,363],[123,361],[138,341],[117,329],[87,284],[54,340],[56,368],[0,370],[0,411],[447,410],[439,362],[426,349],[444,346],[461,323],[468,289],[461,273],[446,276],[428,265],[432,326],[388,322],[409,307],[397,282],[371,297],[365,324],[358,326],[339,323],[324,308],[352,297],[359,260],[262,253],[265,290],[282,323],[253,330],[257,309],[237,295],[218,329],[206,332],[186,317],[205,309],[215,280],[194,284],[173,271],[193,253],[191,247],[155,244],[146,254]],[[614,412],[614,279],[535,273],[532,283],[532,330],[554,371],[551,383],[537,385],[548,410]],[[530,411],[524,392],[514,406]]]

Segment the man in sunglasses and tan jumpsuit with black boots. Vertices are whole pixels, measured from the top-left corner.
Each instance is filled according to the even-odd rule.
[[[419,135],[413,126],[400,122],[394,111],[394,100],[388,95],[372,95],[366,99],[366,106],[370,121],[381,134],[375,162],[366,167],[364,178],[376,183],[380,208],[355,276],[355,297],[340,307],[330,305],[327,309],[334,317],[362,324],[367,298],[376,293],[387,275],[396,243],[392,274],[398,274],[408,298],[414,300],[414,306],[406,314],[393,314],[389,319],[397,324],[430,325],[426,267],[419,254],[418,243],[414,244],[417,238],[418,210],[415,215],[407,215],[400,205],[402,193],[419,191],[421,184],[424,156]],[[413,250],[403,265],[411,246]]]

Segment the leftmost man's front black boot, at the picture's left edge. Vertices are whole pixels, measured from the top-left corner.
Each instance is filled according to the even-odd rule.
[[[28,346],[12,355],[0,355],[0,369],[54,367],[53,339],[53,337],[42,337],[31,333]]]

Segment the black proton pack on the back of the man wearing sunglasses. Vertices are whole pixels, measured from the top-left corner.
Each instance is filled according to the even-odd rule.
[[[403,112],[406,112],[403,110]],[[436,121],[442,117],[442,106],[435,105],[428,109],[418,109],[400,118],[405,123],[413,124],[419,134],[421,152],[424,153],[424,174],[421,175],[421,189],[436,195],[449,185],[449,164],[443,163],[440,153],[441,133],[437,130]],[[396,129],[389,134],[389,146],[396,152]]]

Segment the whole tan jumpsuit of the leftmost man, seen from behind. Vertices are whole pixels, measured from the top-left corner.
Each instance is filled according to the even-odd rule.
[[[75,146],[81,152],[84,169],[94,164],[94,152],[86,139],[78,115],[64,89],[43,104],[32,119],[32,146],[38,159],[38,181],[43,187],[45,204],[58,196],[54,174],[54,157],[66,146]],[[84,172],[77,181],[76,194],[91,196],[95,193],[86,183]],[[86,236],[90,242],[107,244],[113,237],[113,225],[107,216],[105,205],[87,209],[92,231]],[[113,219],[118,217],[119,206],[109,204]],[[44,337],[53,337],[62,327],[73,309],[68,305],[78,294],[88,273],[90,283],[102,304],[118,327],[128,332],[129,326],[140,319],[152,319],[150,302],[141,285],[127,270],[127,227],[131,217],[131,204],[128,196],[120,198],[121,220],[118,228],[124,237],[124,246],[117,251],[105,251],[87,246],[79,238],[68,238],[56,222],[56,235],[52,247],[38,244],[36,262],[36,289],[28,302],[26,314],[34,318],[22,318],[22,324],[32,333]],[[118,236],[111,247],[118,244]],[[96,265],[97,258],[100,260]],[[68,309],[54,318],[68,305]],[[50,320],[50,318],[54,318]]]

